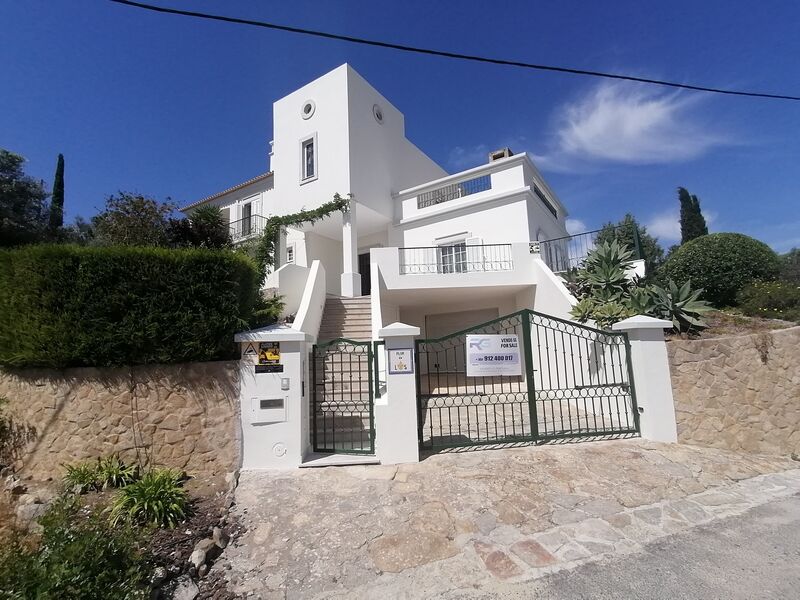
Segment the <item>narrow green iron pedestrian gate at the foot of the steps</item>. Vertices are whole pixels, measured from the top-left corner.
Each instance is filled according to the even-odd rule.
[[[336,339],[311,350],[315,452],[373,454],[372,342]]]

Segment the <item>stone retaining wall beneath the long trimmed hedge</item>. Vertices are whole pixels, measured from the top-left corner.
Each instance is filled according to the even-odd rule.
[[[22,446],[16,468],[60,478],[112,453],[215,477],[239,466],[237,362],[0,371]]]

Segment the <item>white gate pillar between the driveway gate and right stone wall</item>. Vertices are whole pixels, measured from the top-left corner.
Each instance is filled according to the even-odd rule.
[[[628,333],[639,427],[643,438],[656,442],[678,441],[675,401],[664,341],[664,330],[671,327],[670,321],[644,315],[612,326],[615,331]]]

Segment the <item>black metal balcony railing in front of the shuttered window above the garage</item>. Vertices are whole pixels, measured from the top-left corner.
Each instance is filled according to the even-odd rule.
[[[400,274],[480,273],[511,271],[514,261],[511,244],[468,246],[465,243],[446,246],[400,248]]]

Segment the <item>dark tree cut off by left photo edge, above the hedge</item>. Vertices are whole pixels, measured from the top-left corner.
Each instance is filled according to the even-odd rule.
[[[40,241],[47,228],[47,193],[25,174],[25,159],[0,148],[0,246]]]

